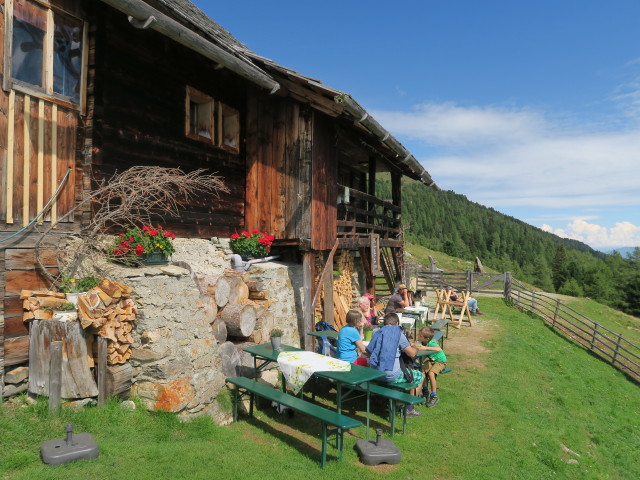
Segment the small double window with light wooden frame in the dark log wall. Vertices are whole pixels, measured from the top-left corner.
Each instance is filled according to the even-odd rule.
[[[186,135],[217,147],[240,151],[240,113],[187,86]]]

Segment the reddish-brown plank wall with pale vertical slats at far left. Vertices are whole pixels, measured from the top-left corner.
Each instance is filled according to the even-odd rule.
[[[76,0],[52,3],[79,14]],[[0,71],[4,68],[4,28],[4,10],[0,10]],[[63,188],[40,221],[61,222],[62,230],[75,228],[73,214],[67,214],[83,184],[82,171],[76,163],[79,115],[78,111],[47,99],[0,89],[0,239],[35,219],[68,169],[71,170]],[[0,244],[0,377],[4,367],[25,362],[29,355],[20,289],[49,287],[35,271],[36,239],[33,233],[22,233]],[[51,256],[46,263],[55,266]]]

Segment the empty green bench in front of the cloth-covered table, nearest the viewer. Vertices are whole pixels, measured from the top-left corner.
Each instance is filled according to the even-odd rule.
[[[281,405],[285,405],[296,412],[304,413],[310,417],[320,420],[322,423],[322,457],[320,465],[322,468],[327,463],[327,439],[332,435],[336,435],[336,443],[339,451],[339,461],[342,461],[342,437],[344,430],[350,428],[360,427],[362,422],[354,420],[353,418],[346,417],[334,411],[328,410],[319,405],[307,402],[293,395],[283,393],[280,390],[276,390],[268,385],[256,382],[245,377],[231,377],[227,378],[227,383],[235,385],[234,389],[234,405],[233,405],[233,421],[238,419],[238,404],[242,395],[249,394],[249,415],[253,416],[253,399],[257,395],[259,397],[277,402]],[[244,390],[244,393],[240,391]],[[328,426],[335,427],[329,429]]]

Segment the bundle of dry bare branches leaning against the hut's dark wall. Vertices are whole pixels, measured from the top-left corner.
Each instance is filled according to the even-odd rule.
[[[58,257],[60,271],[76,275],[83,261],[92,255],[110,256],[100,246],[101,234],[117,228],[149,225],[153,217],[177,218],[180,208],[193,197],[202,194],[217,197],[219,192],[229,191],[216,174],[205,174],[204,170],[184,173],[179,168],[156,166],[135,166],[111,178],[94,181],[97,188],[58,220],[91,210],[89,223],[83,225],[79,233],[61,233],[55,230],[55,224],[50,224],[36,242],[38,269],[54,286],[59,285],[62,273],[54,277],[47,272],[41,252],[47,248],[57,249],[64,237],[74,241],[73,249],[64,252],[64,258]]]

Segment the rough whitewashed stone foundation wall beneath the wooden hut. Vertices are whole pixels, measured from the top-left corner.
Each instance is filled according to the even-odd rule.
[[[205,298],[196,278],[220,275],[230,267],[225,240],[176,239],[168,267],[114,269],[111,274],[134,288],[138,304],[131,364],[132,394],[149,409],[178,413],[183,418],[210,415],[218,423],[230,420],[219,395],[226,391],[219,345],[213,336]],[[262,306],[274,326],[285,331],[283,341],[300,345],[302,267],[277,261],[253,265],[250,279],[261,281],[269,298]],[[304,330],[302,330],[304,332]],[[244,357],[246,366],[251,366]],[[228,401],[226,402],[228,404]]]

